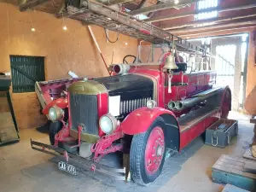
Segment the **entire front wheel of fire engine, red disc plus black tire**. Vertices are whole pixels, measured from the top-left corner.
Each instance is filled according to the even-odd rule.
[[[132,138],[130,168],[135,183],[147,185],[160,176],[166,156],[165,126],[163,119],[155,119],[148,131]]]

